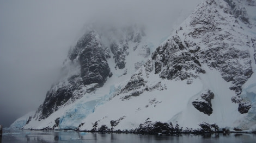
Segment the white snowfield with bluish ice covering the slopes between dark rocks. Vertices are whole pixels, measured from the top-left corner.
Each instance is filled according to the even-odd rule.
[[[229,13],[223,12],[223,9],[229,8],[228,3],[223,0],[205,0],[197,6],[195,12],[186,18],[186,20],[167,38],[161,45],[164,45],[172,36],[178,35],[181,41],[193,41],[200,49],[207,49],[209,45],[212,47],[219,42],[228,45],[229,48],[238,49],[249,52],[249,56],[237,62],[237,66],[243,68],[251,68],[252,76],[242,86],[240,97],[243,101],[251,103],[248,113],[241,114],[237,110],[238,103],[231,102],[232,96],[236,95],[234,90],[229,88],[233,83],[227,82],[222,78],[220,70],[209,67],[202,59],[199,62],[205,73],[193,73],[198,75],[195,79],[191,77],[188,80],[168,80],[161,79],[160,73],[155,74],[155,65],[153,60],[153,72],[147,72],[145,66],[135,69],[135,63],[146,63],[149,57],[144,57],[143,46],[147,41],[147,37],[142,39],[138,48],[133,51],[135,43],[129,43],[129,55],[126,56],[125,69],[115,69],[114,59],[108,59],[109,67],[113,73],[109,77],[103,87],[97,88],[94,92],[86,93],[81,99],[74,102],[67,102],[56,112],[53,112],[48,118],[41,121],[38,120],[38,113],[27,114],[17,119],[10,127],[26,128],[26,129],[44,129],[56,125],[56,119],[59,118],[59,124],[54,129],[76,129],[80,131],[91,131],[105,125],[112,131],[132,131],[147,121],[151,122],[172,122],[183,128],[198,129],[199,124],[207,122],[216,124],[220,128],[233,130],[234,128],[243,131],[256,131],[256,2],[254,5],[248,4],[246,0],[234,1],[239,6],[245,7],[248,13],[249,24],[245,24]],[[194,27],[191,21],[199,17],[197,11],[209,11],[214,15],[214,20],[218,24],[216,27],[222,30],[205,34],[205,37],[190,36],[190,32]],[[207,17],[205,17],[207,19]],[[197,25],[198,26],[198,25]],[[227,32],[229,37],[224,37],[224,41],[218,40],[216,33],[225,35]],[[228,39],[228,40],[227,40]],[[184,42],[182,43],[186,45]],[[150,47],[151,52],[154,51]],[[180,51],[176,51],[180,52]],[[218,56],[218,55],[217,55]],[[111,57],[113,54],[111,53]],[[163,65],[162,65],[163,66]],[[164,67],[162,67],[163,69]],[[76,70],[79,68],[76,68]],[[70,69],[72,70],[72,69]],[[127,74],[123,74],[124,72]],[[186,71],[187,72],[187,71]],[[140,74],[144,79],[144,87],[157,87],[151,90],[143,90],[138,96],[128,96],[134,91],[123,91],[133,74]],[[86,89],[84,89],[86,90]],[[135,89],[141,91],[141,89]],[[192,101],[198,99],[198,96],[205,90],[211,90],[214,93],[214,99],[211,100],[212,114],[206,115],[192,105]],[[198,99],[200,100],[200,99]],[[31,121],[26,124],[29,116]],[[118,122],[113,126],[111,122]]]

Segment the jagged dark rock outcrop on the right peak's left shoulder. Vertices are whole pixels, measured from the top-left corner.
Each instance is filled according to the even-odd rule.
[[[163,79],[185,80],[190,77],[198,77],[196,75],[198,73],[205,73],[198,61],[198,57],[193,54],[200,48],[191,48],[193,52],[190,53],[186,50],[186,47],[190,48],[191,46],[196,46],[196,44],[188,41],[185,43],[186,46],[182,44],[180,37],[176,35],[154,51],[151,58],[155,62],[155,74],[160,73],[160,77]],[[195,74],[190,71],[194,71]]]

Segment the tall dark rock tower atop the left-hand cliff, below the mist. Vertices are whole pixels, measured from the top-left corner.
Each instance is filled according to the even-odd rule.
[[[87,32],[69,54],[72,61],[78,57],[84,85],[99,83],[102,86],[110,72],[107,63],[109,50],[101,46],[99,37],[94,30]]]

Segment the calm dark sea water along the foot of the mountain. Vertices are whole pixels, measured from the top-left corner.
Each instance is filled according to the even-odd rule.
[[[117,133],[84,133],[74,131],[30,131],[4,128],[0,143],[5,142],[256,142],[255,134],[229,135],[137,135]]]

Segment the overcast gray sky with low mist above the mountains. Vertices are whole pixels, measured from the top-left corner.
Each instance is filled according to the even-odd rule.
[[[39,107],[86,23],[143,23],[160,41],[200,1],[0,0],[0,124]]]

